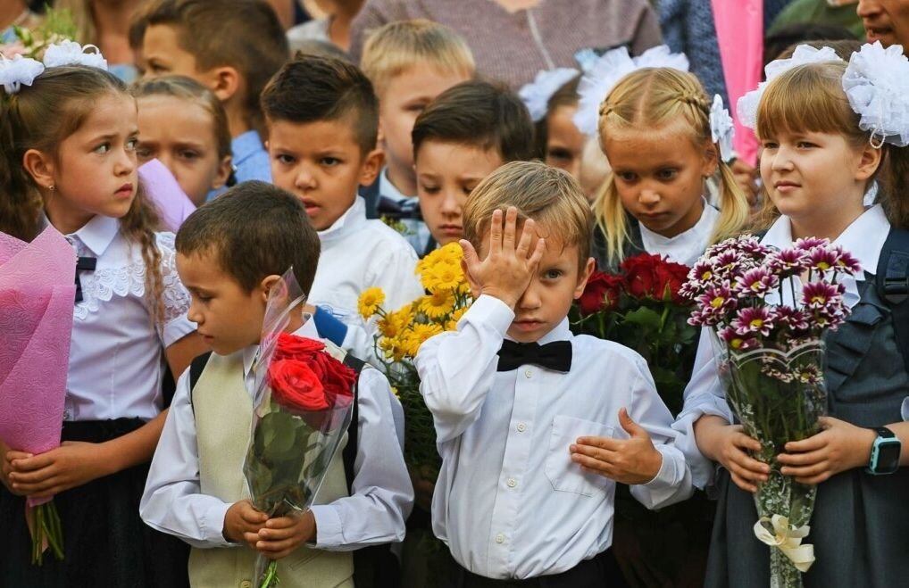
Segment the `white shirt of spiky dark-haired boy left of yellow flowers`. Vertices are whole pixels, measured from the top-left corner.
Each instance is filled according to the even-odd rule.
[[[414,248],[382,221],[366,220],[363,198],[325,231],[309,304],[328,308],[345,320],[356,314],[360,294],[369,287],[385,291],[383,308],[395,311],[423,295],[415,274]],[[347,322],[347,320],[345,320]]]

